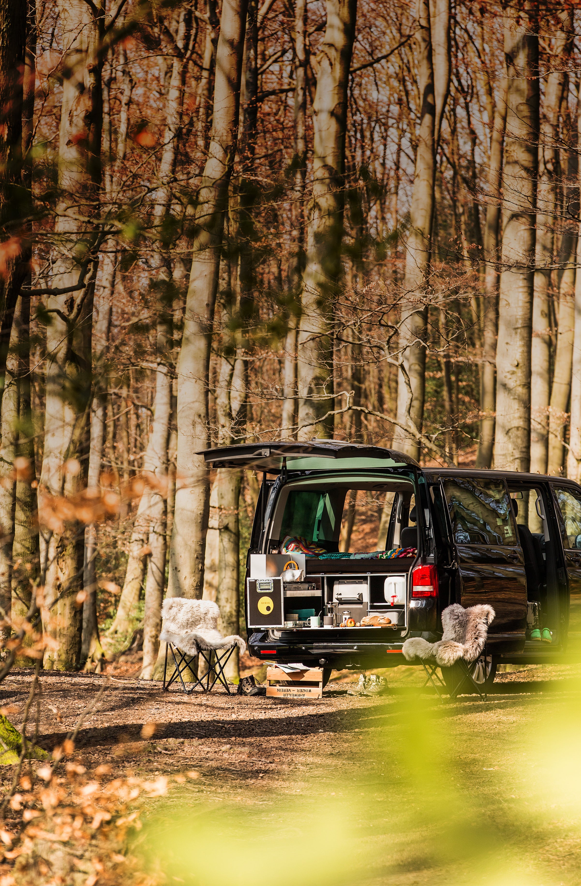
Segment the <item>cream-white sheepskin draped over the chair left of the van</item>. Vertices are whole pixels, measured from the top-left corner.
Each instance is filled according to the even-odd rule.
[[[211,600],[185,600],[169,597],[163,602],[161,616],[163,629],[160,641],[171,643],[190,656],[197,656],[200,649],[231,649],[238,646],[246,650],[246,643],[237,634],[223,637],[216,629],[220,610]]]

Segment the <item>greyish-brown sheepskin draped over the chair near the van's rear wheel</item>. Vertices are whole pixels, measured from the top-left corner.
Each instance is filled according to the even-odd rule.
[[[487,603],[479,603],[468,609],[463,609],[459,603],[452,603],[442,613],[442,640],[428,643],[422,637],[410,637],[402,648],[404,656],[408,661],[413,658],[435,659],[441,667],[451,667],[459,658],[474,662],[482,654],[488,626],[494,615],[494,610]]]

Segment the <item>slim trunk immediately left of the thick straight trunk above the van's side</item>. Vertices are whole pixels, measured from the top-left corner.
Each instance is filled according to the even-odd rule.
[[[502,154],[506,127],[506,97],[508,81],[502,82],[494,108],[491,134],[491,153],[488,172],[490,200],[486,207],[484,225],[484,311],[483,311],[483,377],[480,423],[480,440],[476,455],[477,468],[490,468],[494,446],[494,412],[496,409],[496,345],[499,315],[499,229],[500,184],[502,182]]]

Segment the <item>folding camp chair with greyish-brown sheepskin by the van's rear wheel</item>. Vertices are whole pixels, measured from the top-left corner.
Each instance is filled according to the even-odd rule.
[[[484,683],[481,687],[472,676],[470,665],[474,664],[481,655],[486,661],[488,626],[493,618],[494,610],[486,604],[464,609],[459,603],[452,603],[442,613],[444,628],[442,640],[429,643],[423,637],[410,637],[404,642],[402,651],[405,658],[408,661],[413,661],[414,658],[420,659],[428,675],[424,686],[431,682],[442,701],[444,698],[441,688],[445,684],[436,674],[438,667],[453,667],[458,676],[454,687],[448,689],[450,699],[465,691],[476,692],[486,701],[486,671],[484,670]]]

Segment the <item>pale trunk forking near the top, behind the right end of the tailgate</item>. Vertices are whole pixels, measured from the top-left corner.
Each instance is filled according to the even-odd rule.
[[[404,299],[401,305],[399,350],[404,372],[397,380],[397,420],[421,430],[424,412],[426,311],[423,291],[431,258],[436,147],[450,84],[450,0],[418,0],[416,32],[420,85],[420,132],[413,176],[410,230],[405,250]],[[409,381],[408,381],[409,379]],[[410,390],[411,388],[411,390]],[[413,434],[396,427],[393,446],[420,457]]]

